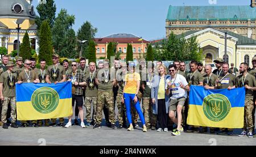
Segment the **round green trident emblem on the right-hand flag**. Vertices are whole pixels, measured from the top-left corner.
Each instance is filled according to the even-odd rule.
[[[229,114],[231,104],[222,94],[210,94],[204,98],[203,109],[205,116],[210,121],[220,122]]]

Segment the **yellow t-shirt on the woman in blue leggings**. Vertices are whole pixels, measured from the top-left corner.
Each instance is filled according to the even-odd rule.
[[[123,91],[124,93],[127,94],[136,94],[137,92],[137,81],[141,81],[141,76],[139,73],[128,73],[125,76],[125,81],[126,81],[126,86],[125,90]]]

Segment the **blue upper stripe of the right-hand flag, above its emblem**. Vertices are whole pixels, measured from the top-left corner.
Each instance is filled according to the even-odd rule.
[[[190,86],[189,105],[203,105],[204,98],[210,94],[222,94],[226,96],[232,108],[243,108],[245,106],[245,87],[228,89],[207,90],[203,86]]]

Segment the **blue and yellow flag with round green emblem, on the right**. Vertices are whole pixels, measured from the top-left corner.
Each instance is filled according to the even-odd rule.
[[[189,125],[242,128],[245,88],[206,90],[191,86],[189,92]]]

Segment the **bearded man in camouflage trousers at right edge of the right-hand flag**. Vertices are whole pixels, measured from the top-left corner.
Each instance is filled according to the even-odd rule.
[[[256,80],[253,75],[250,75],[247,72],[248,64],[242,63],[240,65],[240,73],[241,75],[237,77],[236,86],[242,87],[245,86],[246,88],[246,94],[245,94],[245,117],[243,122],[243,131],[240,135],[240,137],[248,136],[249,138],[253,138],[253,108],[254,108],[254,102],[253,102],[253,90],[256,90]],[[246,130],[247,126],[247,130]]]

